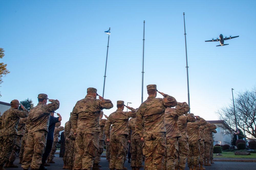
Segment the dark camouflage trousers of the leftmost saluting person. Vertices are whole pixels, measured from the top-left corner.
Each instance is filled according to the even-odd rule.
[[[0,137],[0,165],[4,165],[9,159],[16,141],[16,137],[16,134]]]

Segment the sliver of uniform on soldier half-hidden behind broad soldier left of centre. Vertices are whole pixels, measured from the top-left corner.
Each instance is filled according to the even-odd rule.
[[[99,124],[100,124],[99,150],[98,150],[97,156],[95,157],[95,160],[93,162],[95,164],[100,163],[100,157],[101,157],[101,154],[103,153],[104,138],[105,138],[104,126],[105,126],[106,121],[107,121],[106,119],[100,119],[100,122],[99,122]]]

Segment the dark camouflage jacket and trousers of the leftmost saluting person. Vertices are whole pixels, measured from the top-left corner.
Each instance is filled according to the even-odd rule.
[[[0,117],[0,165],[4,165],[12,153],[17,137],[19,119],[27,117],[28,110],[10,108]]]

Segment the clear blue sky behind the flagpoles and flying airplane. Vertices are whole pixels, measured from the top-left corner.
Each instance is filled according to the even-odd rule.
[[[104,98],[116,110],[124,100],[141,104],[142,39],[145,20],[144,101],[146,85],[179,102],[188,101],[183,12],[187,33],[191,113],[217,120],[215,112],[236,92],[255,85],[256,1],[1,1],[0,47],[10,71],[0,101],[45,93],[58,99],[69,119],[88,87],[102,95],[111,27]],[[225,41],[211,38],[238,36]],[[158,94],[157,97],[162,97]],[[125,109],[126,110],[126,109]]]

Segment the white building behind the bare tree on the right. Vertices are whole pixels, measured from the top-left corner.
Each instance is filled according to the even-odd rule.
[[[229,127],[223,120],[212,120],[208,121],[209,123],[215,124],[217,126],[217,133],[214,134],[214,143],[213,145],[225,145],[228,144],[231,146],[231,141],[233,138],[233,129]]]

